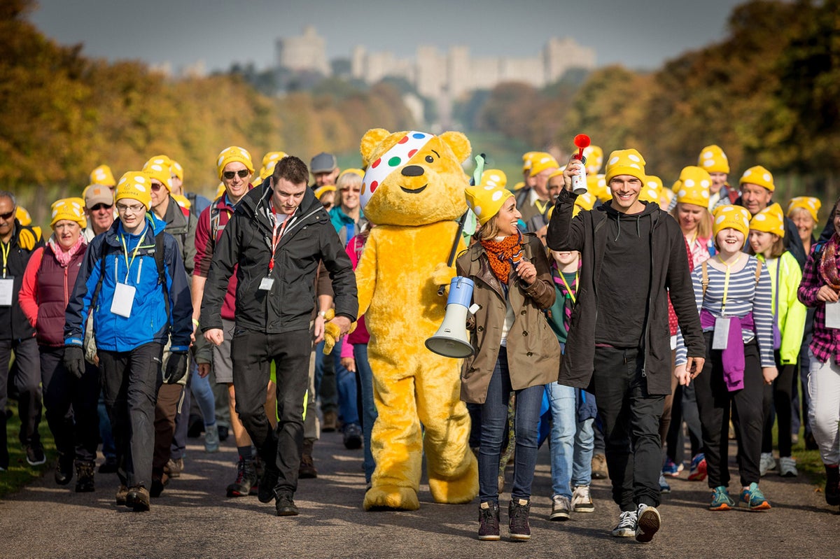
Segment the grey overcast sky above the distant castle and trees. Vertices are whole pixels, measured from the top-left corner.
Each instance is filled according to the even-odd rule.
[[[418,44],[465,44],[474,56],[537,55],[549,37],[596,50],[598,65],[655,69],[721,40],[736,0],[38,0],[30,20],[60,44],[108,60],[208,71],[274,65],[275,40],[312,24],[330,59],[356,44],[413,56]]]

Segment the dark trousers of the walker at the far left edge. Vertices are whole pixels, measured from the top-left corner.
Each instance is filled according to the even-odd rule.
[[[38,342],[34,337],[25,340],[0,340],[0,466],[8,468],[6,440],[6,404],[8,402],[8,363],[14,351],[12,383],[18,392],[20,416],[20,444],[40,444],[38,426],[41,422],[41,367]]]

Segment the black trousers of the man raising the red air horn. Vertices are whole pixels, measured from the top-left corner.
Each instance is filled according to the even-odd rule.
[[[664,395],[648,394],[644,355],[636,348],[595,348],[595,394],[604,427],[612,499],[622,511],[659,506]]]

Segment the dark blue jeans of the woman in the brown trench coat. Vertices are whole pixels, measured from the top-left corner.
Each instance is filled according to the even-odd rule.
[[[481,405],[481,445],[478,455],[478,485],[481,503],[499,501],[499,460],[501,441],[507,428],[507,402],[510,400],[511,376],[507,369],[507,350],[499,348],[496,368]],[[511,499],[531,499],[533,470],[537,466],[537,424],[543,403],[543,385],[516,390],[514,429],[516,451],[513,462]]]

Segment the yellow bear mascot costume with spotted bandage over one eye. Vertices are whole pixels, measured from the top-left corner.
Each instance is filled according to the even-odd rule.
[[[467,209],[461,163],[470,141],[459,132],[375,128],[360,149],[369,164],[361,204],[376,227],[356,283],[379,413],[365,509],[418,509],[423,452],[433,499],[469,503],[478,494],[478,462],[470,451],[470,416],[459,399],[460,361],[430,352],[424,342],[444,321],[446,297],[438,287],[455,275],[447,259],[456,220]]]

